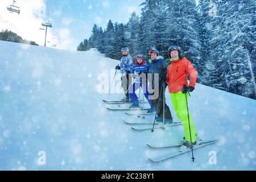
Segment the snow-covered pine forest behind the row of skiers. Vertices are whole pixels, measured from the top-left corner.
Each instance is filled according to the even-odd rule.
[[[141,8],[126,24],[95,24],[77,50],[97,48],[119,60],[124,46],[133,57],[154,47],[168,59],[168,47],[178,45],[199,72],[197,82],[256,98],[255,0],[146,0]]]

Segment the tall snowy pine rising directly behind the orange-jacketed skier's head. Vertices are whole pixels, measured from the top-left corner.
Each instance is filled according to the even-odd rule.
[[[199,72],[200,81],[203,66],[201,63],[201,42],[199,12],[195,1],[171,1],[167,7],[167,35],[169,44],[180,46],[186,56]]]

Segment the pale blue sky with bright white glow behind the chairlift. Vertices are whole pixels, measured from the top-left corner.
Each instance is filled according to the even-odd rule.
[[[141,14],[144,0],[16,0],[20,14],[7,12],[6,6],[13,1],[0,2],[0,28],[16,32],[23,38],[43,45],[44,31],[41,22],[53,23],[49,28],[48,47],[76,49],[78,44],[89,38],[93,24],[106,28],[109,19],[113,23],[127,23],[130,14]]]

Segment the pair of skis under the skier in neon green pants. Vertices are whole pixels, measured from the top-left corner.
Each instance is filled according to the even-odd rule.
[[[197,142],[197,144],[195,144],[193,146],[193,150],[196,150],[198,148],[202,148],[205,146],[209,146],[210,144],[214,144],[218,141],[218,139],[213,139],[213,140],[199,140]],[[183,145],[183,143],[178,143],[175,145],[163,145],[163,146],[158,146],[158,145],[154,145],[154,144],[147,144],[148,147],[150,148],[169,148],[169,147],[181,147]],[[164,155],[160,155],[160,156],[152,156],[152,157],[148,157],[149,160],[151,160],[152,162],[162,162],[163,160],[166,159],[170,159],[170,158],[174,158],[177,155],[181,155],[184,154],[186,152],[191,151],[191,148],[185,148],[182,151],[174,151],[174,152],[169,152],[167,154]]]

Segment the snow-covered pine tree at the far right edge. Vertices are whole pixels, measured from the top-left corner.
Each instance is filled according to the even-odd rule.
[[[230,55],[230,69],[226,75],[228,91],[246,97],[254,97],[255,81],[251,74],[251,61],[249,52],[251,44],[251,17],[255,6],[248,5],[248,1],[232,1],[233,4],[226,8],[226,19],[230,26],[226,32],[230,39],[227,42],[226,52]]]

